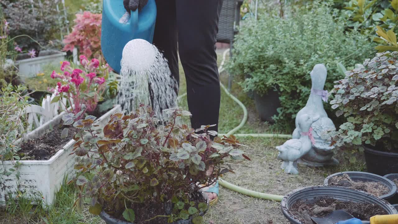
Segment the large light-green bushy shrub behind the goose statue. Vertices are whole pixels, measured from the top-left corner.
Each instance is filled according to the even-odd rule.
[[[286,16],[250,21],[236,37],[228,69],[236,75],[250,75],[242,86],[265,94],[277,88],[282,107],[274,116],[279,125],[292,130],[291,122],[310,94],[310,71],[317,63],[328,69],[326,90],[343,78],[337,63],[347,67],[362,62],[374,53],[374,45],[356,32],[345,32],[340,18],[328,4],[314,2],[291,10]],[[331,112],[329,106],[325,106]],[[332,115],[332,113],[329,113]],[[332,118],[333,119],[333,118]]]

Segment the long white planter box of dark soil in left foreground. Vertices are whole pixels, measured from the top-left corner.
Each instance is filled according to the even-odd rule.
[[[100,125],[98,128],[103,128],[109,122],[110,116],[116,114],[119,110],[120,106],[117,105],[101,116],[98,119],[98,124]],[[51,126],[59,124],[64,114],[66,114],[66,112],[62,112],[52,120],[30,132],[25,139],[43,136]],[[71,177],[74,173],[75,155],[69,155],[72,153],[74,143],[74,140],[70,140],[64,145],[63,149],[59,150],[49,160],[20,161],[22,164],[18,169],[20,171],[20,189],[38,191],[43,195],[43,202],[45,204],[53,204],[55,202],[55,193],[60,188],[65,175]],[[7,170],[14,167],[11,161],[4,161],[3,164],[0,162],[1,168],[3,168],[3,165]],[[7,192],[15,192],[16,190],[17,179],[14,175],[0,179],[0,206],[4,206],[2,202],[6,201]]]

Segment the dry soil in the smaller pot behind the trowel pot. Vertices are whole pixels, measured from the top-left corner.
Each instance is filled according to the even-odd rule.
[[[379,182],[365,182],[365,181],[353,181],[347,174],[338,175],[330,178],[330,186],[337,187],[348,187],[350,189],[365,191],[375,196],[386,195],[390,193],[390,189]]]

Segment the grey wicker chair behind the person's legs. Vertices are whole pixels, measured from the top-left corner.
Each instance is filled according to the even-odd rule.
[[[230,48],[233,47],[234,35],[237,33],[235,29],[240,22],[240,6],[243,0],[224,0],[222,3],[221,14],[219,19],[219,33],[217,34],[217,42],[229,43]],[[232,56],[232,51],[230,51]],[[228,77],[228,88],[231,89],[232,77]]]

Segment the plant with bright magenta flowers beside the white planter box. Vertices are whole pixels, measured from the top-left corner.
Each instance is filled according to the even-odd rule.
[[[53,91],[57,92],[52,102],[64,103],[62,98],[66,98],[69,105],[72,106],[73,114],[83,110],[84,112],[93,112],[99,101],[102,100],[103,93],[106,89],[105,79],[109,77],[109,65],[101,65],[98,59],[89,61],[86,56],[80,55],[80,64],[82,69],[74,69],[69,61],[61,64],[59,74],[53,71],[52,79],[59,79],[57,87]],[[68,108],[67,105],[64,105]],[[68,110],[68,109],[66,109]]]

